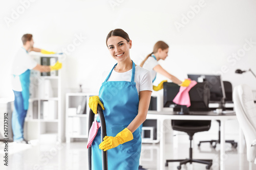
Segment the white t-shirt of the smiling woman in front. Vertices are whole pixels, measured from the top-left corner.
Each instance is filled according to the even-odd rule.
[[[108,81],[127,81],[131,82],[133,69],[130,69],[126,72],[116,72],[113,69],[110,78]],[[108,77],[109,72],[104,72],[103,81]],[[150,72],[144,68],[141,68],[139,65],[135,67],[134,82],[136,83],[136,89],[138,94],[140,91],[150,90],[153,91],[153,84]]]

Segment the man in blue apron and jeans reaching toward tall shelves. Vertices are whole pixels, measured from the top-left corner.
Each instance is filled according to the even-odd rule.
[[[25,117],[29,106],[29,85],[30,85],[30,70],[35,69],[40,72],[49,72],[58,70],[62,64],[58,61],[53,66],[37,64],[31,56],[30,51],[41,52],[43,54],[55,54],[39,48],[33,47],[34,41],[31,34],[25,34],[22,37],[23,46],[20,47],[14,56],[12,65],[12,89],[14,92],[14,109],[12,113],[12,131],[13,141],[17,143],[28,143],[24,139],[23,129]]]

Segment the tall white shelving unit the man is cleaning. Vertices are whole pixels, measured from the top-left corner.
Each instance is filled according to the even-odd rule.
[[[41,65],[53,65],[61,55],[32,55]],[[51,63],[45,63],[49,61]],[[44,62],[44,63],[43,63]],[[55,62],[54,62],[55,63]],[[25,118],[25,138],[39,142],[61,141],[63,116],[61,116],[61,69],[41,74],[31,70],[29,109]]]

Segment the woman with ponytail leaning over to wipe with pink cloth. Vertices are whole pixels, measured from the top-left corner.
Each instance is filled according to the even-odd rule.
[[[166,78],[172,80],[172,82],[187,87],[190,84],[190,80],[185,79],[183,82],[180,81],[175,76],[169,74],[161,65],[158,63],[159,60],[165,60],[168,56],[169,46],[163,42],[158,41],[153,48],[153,52],[146,56],[146,58],[140,64],[141,67],[149,70],[151,72],[153,83],[156,80],[157,72]],[[158,86],[153,86],[153,90],[158,91],[163,88],[163,83],[167,82],[167,80],[162,81],[159,83]]]

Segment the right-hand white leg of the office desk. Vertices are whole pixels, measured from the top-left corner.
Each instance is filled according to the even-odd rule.
[[[224,159],[226,159],[225,154],[225,120],[221,120],[221,142],[220,142],[220,169],[225,169]]]

